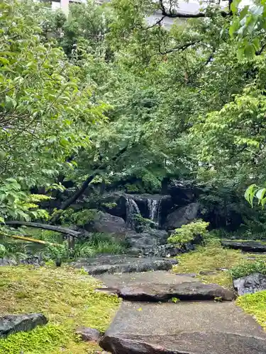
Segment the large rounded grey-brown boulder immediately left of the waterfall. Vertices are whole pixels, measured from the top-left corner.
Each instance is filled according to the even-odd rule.
[[[119,239],[123,239],[128,231],[126,223],[121,217],[115,217],[107,212],[99,212],[92,224],[85,225],[85,229],[89,232],[113,234]]]

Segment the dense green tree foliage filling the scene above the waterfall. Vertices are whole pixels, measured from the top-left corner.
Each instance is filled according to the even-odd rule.
[[[184,19],[177,1],[89,0],[66,18],[4,1],[1,190],[16,180],[24,207],[11,210],[7,192],[1,220],[48,217],[27,209],[28,195],[57,197],[69,181],[64,195],[82,183],[153,193],[173,177],[203,183],[206,212],[262,229],[243,193],[266,180],[264,5],[230,4]],[[148,24],[153,11],[162,18]]]

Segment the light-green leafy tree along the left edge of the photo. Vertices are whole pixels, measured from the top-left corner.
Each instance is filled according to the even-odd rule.
[[[14,178],[27,194],[74,168],[71,156],[90,146],[88,132],[108,105],[92,98],[81,69],[43,37],[41,5],[5,1],[0,9],[0,180]]]

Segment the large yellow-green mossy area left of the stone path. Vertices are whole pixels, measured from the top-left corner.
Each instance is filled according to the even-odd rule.
[[[118,308],[115,296],[94,292],[96,280],[71,268],[0,268],[0,313],[42,312],[46,326],[0,340],[5,354],[85,354],[98,347],[75,336],[78,326],[105,331]]]

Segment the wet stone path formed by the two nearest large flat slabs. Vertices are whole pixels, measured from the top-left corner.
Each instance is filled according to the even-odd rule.
[[[138,296],[121,304],[100,343],[113,354],[266,353],[266,333],[251,316],[234,302],[209,301],[210,294],[212,299],[219,297],[216,295],[233,299],[230,290],[218,285],[211,285],[210,290],[210,285],[201,284],[192,276],[167,271],[102,274],[97,278],[107,290],[118,291],[119,296],[125,292],[123,289],[131,291],[131,295],[136,290],[142,296],[147,295],[147,290],[153,292],[149,302],[143,301],[147,297]],[[171,300],[177,290],[198,294],[199,287],[201,301]],[[174,293],[169,294],[171,289]],[[155,299],[158,294],[167,296]]]

